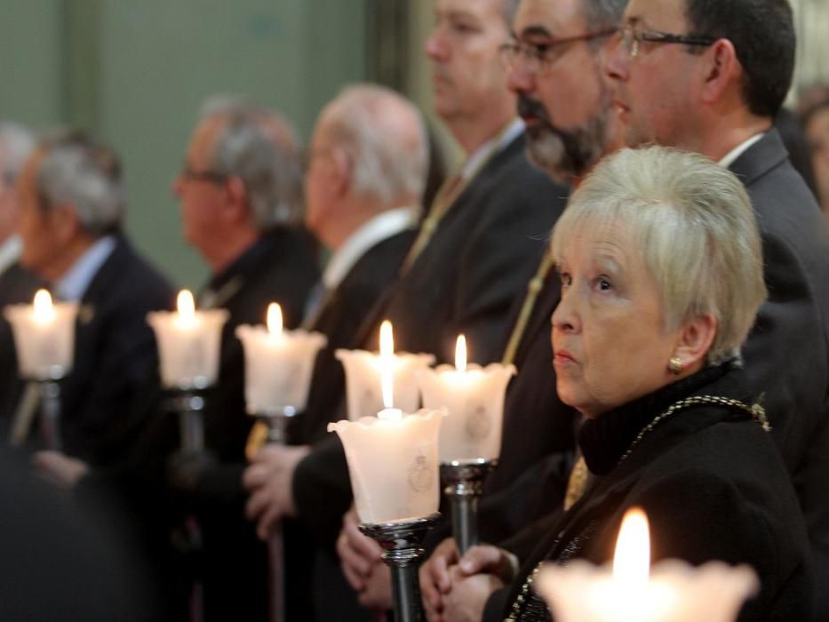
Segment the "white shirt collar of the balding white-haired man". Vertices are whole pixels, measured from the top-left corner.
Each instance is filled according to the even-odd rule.
[[[414,227],[417,221],[418,209],[413,207],[395,207],[382,211],[368,220],[331,255],[323,272],[325,287],[332,290],[339,286],[351,268],[372,246]]]

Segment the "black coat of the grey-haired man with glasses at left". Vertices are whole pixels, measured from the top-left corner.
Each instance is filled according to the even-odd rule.
[[[133,412],[136,427],[143,425],[132,451],[79,486],[82,498],[97,498],[113,486],[125,498],[163,587],[172,592],[167,597],[173,610],[181,595],[176,590],[187,586],[188,577],[197,577],[206,620],[267,618],[267,550],[244,517],[244,448],[254,419],[245,412],[243,347],[235,327],[263,323],[270,302],[282,305],[287,327],[297,325],[318,276],[313,239],[304,229],[280,227],[263,235],[202,292],[200,298],[211,307],[227,309],[229,320],[221,335],[219,378],[205,395],[204,442],[211,459],[195,465],[195,489],[168,488],[179,427],[157,387],[147,387],[149,396]],[[203,538],[194,559],[169,550],[170,530],[178,530],[187,514],[198,518]]]

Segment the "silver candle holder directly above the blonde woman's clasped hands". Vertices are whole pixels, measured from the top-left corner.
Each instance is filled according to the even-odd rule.
[[[441,464],[443,493],[452,511],[452,536],[460,554],[478,544],[478,503],[497,459],[452,460]]]

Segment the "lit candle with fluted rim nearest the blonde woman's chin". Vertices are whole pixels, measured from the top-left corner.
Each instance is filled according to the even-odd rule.
[[[513,365],[467,365],[463,335],[458,336],[455,347],[455,367],[418,370],[423,405],[444,406],[449,411],[441,427],[441,462],[498,458],[504,395],[514,374]]]

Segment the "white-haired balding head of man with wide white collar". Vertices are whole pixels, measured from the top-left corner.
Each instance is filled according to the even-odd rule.
[[[331,145],[351,157],[355,195],[384,205],[420,202],[428,141],[409,100],[383,86],[353,84],[321,118]]]

